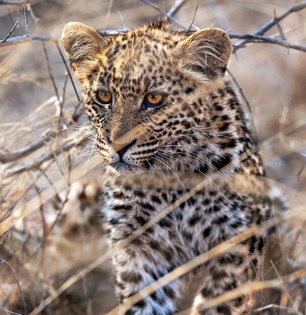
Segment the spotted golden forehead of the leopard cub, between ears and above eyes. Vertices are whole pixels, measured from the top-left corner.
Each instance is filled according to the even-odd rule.
[[[196,85],[197,78],[176,58],[175,49],[185,38],[169,30],[143,28],[120,35],[92,62],[84,87],[92,93],[108,90],[117,99],[128,100],[129,108],[139,108],[135,97],[148,92],[167,95],[174,86]]]

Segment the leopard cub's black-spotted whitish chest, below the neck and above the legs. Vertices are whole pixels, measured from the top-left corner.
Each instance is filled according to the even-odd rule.
[[[185,194],[183,190],[107,188],[102,214],[108,238],[123,241]],[[230,192],[199,192],[148,227],[135,246],[182,248],[185,256],[199,255],[265,215],[268,201]],[[169,208],[168,208],[169,209]]]

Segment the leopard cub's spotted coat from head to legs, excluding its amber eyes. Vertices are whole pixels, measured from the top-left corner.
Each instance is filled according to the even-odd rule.
[[[189,36],[158,20],[106,38],[72,22],[62,42],[83,86],[108,171],[102,213],[112,245],[184,195],[199,176],[219,172],[255,147],[239,97],[223,81],[232,53],[224,31]],[[112,94],[111,104],[97,99],[102,90]],[[163,95],[163,104],[146,106],[148,93]],[[269,188],[262,176],[261,157],[253,153],[116,251],[118,301],[269,217]],[[248,312],[252,299],[245,297],[204,312],[197,306],[252,280],[262,246],[262,236],[253,237],[205,264],[192,314]],[[176,279],[125,314],[175,313],[183,281]]]

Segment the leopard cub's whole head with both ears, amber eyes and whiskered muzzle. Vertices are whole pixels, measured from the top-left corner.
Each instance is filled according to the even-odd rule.
[[[203,163],[219,159],[211,137],[224,130],[215,129],[208,98],[232,53],[224,31],[188,36],[158,20],[107,38],[71,22],[62,42],[109,170],[207,172]]]

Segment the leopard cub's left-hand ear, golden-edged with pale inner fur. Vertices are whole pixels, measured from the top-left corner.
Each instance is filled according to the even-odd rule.
[[[61,40],[73,70],[80,63],[93,60],[109,42],[94,28],[80,22],[67,23]]]

